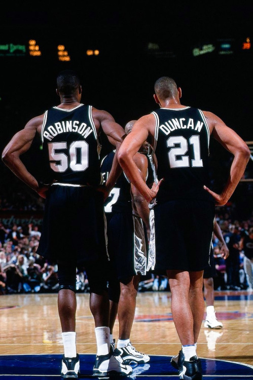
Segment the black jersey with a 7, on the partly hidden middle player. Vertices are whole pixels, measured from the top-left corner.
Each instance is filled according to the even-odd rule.
[[[101,163],[101,173],[104,182],[112,169],[115,150],[105,156]],[[124,172],[119,176],[114,188],[104,204],[104,212],[130,212],[132,213],[132,199],[130,194],[130,182]]]

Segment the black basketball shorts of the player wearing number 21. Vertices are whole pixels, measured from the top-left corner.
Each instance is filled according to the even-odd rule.
[[[213,235],[215,207],[203,200],[173,200],[157,204],[149,254],[152,269],[164,271],[202,271],[208,266]]]

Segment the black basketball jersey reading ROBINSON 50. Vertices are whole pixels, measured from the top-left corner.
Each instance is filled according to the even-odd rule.
[[[48,109],[41,137],[48,169],[45,181],[94,186],[102,183],[99,161],[101,145],[91,105]]]

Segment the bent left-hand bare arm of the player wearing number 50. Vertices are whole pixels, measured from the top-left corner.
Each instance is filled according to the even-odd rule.
[[[43,115],[31,119],[24,129],[17,132],[11,141],[6,145],[2,153],[2,160],[6,166],[24,183],[40,194],[40,186],[31,173],[29,173],[22,163],[20,156],[23,155],[31,146],[37,131],[41,130]],[[40,194],[41,195],[41,194]],[[45,195],[41,195],[45,198]]]

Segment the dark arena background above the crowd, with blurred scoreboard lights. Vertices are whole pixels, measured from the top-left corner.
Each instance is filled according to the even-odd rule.
[[[40,1],[11,4],[0,13],[1,151],[30,118],[58,104],[55,78],[66,68],[81,75],[82,101],[111,112],[123,127],[156,109],[154,82],[168,75],[182,87],[182,104],[212,111],[252,142],[251,2],[158,2],[152,7],[77,2],[69,11],[57,2],[50,7]],[[23,159],[40,177],[37,144]],[[110,149],[103,141],[101,156]],[[230,160],[211,140],[214,190],[226,180]],[[12,178],[6,189],[14,176],[0,165],[5,196],[17,181]],[[252,211],[252,171],[250,160],[232,198],[238,218]]]

